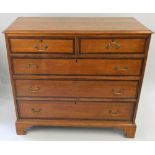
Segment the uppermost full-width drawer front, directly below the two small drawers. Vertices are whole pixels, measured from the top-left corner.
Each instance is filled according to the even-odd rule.
[[[13,59],[14,74],[139,75],[142,60]]]

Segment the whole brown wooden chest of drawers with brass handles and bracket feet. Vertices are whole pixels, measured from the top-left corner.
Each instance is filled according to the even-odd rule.
[[[151,33],[133,18],[18,18],[5,31],[17,134],[77,126],[134,137]]]

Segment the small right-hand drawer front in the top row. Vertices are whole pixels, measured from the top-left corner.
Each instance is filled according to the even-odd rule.
[[[145,39],[81,39],[81,53],[142,53]]]

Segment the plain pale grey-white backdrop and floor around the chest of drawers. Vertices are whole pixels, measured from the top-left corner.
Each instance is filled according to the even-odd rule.
[[[155,14],[0,14],[0,32],[19,16],[135,17],[155,32]],[[26,136],[15,132],[15,110],[10,86],[4,35],[0,34],[0,140],[155,140],[155,37],[152,35],[137,113],[137,132],[126,139],[117,129],[35,127]]]

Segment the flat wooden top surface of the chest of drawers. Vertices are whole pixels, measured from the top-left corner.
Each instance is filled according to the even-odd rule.
[[[134,18],[19,17],[5,33],[152,33]]]

